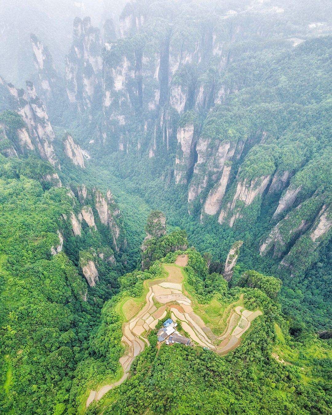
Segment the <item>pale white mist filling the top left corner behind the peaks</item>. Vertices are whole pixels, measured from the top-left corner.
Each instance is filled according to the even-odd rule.
[[[30,34],[48,47],[56,68],[63,70],[73,32],[73,20],[89,16],[101,30],[117,20],[126,0],[12,0],[0,8],[0,75],[23,86],[35,74]]]

